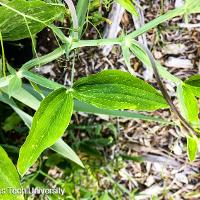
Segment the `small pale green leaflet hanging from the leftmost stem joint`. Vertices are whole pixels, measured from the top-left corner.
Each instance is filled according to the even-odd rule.
[[[8,95],[12,96],[14,93],[17,93],[22,87],[22,80],[17,75],[14,75],[8,85]]]

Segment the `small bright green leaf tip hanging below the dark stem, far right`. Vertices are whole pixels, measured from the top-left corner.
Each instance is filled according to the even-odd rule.
[[[187,137],[187,153],[190,161],[194,161],[198,152],[198,138],[193,136]]]

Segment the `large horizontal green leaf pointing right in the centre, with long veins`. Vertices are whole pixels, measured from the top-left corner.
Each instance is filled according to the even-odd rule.
[[[168,107],[151,85],[120,70],[105,70],[81,78],[73,89],[78,100],[99,108],[156,110]]]

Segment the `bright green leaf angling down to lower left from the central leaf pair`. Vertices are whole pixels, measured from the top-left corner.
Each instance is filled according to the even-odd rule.
[[[53,145],[67,128],[73,111],[73,96],[64,88],[50,93],[40,104],[25,143],[20,149],[18,171],[24,175],[48,147]]]

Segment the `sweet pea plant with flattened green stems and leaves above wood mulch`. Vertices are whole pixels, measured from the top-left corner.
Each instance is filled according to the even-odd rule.
[[[129,12],[136,14],[131,1],[117,0]],[[20,148],[17,169],[0,147],[0,188],[21,188],[20,178],[37,161],[40,154],[51,148],[62,156],[84,167],[73,150],[61,139],[70,123],[73,112],[82,111],[93,114],[107,114],[110,116],[140,118],[170,124],[156,117],[143,115],[124,109],[135,111],[154,111],[157,109],[171,109],[177,117],[176,125],[181,127],[187,138],[187,150],[190,161],[195,160],[199,142],[199,108],[197,97],[200,96],[200,75],[194,75],[182,81],[170,74],[151,52],[136,41],[136,38],[160,23],[173,17],[200,12],[200,1],[186,0],[184,6],[170,10],[167,13],[145,24],[128,35],[121,35],[115,39],[81,40],[84,19],[87,15],[89,0],[79,0],[75,8],[71,0],[62,3],[46,3],[40,0],[0,0],[0,101],[10,105],[30,128],[26,141]],[[63,34],[56,27],[55,20],[62,21],[68,6],[72,17],[72,31],[69,36]],[[53,52],[36,57],[21,66],[19,70],[10,66],[4,55],[4,41],[15,41],[30,37],[33,41],[35,34],[43,28],[50,28],[62,43]],[[86,46],[119,45],[125,59],[128,71],[131,70],[130,56],[134,54],[145,66],[153,68],[160,91],[147,82],[135,77],[129,72],[120,70],[104,70],[100,73],[80,78],[73,85],[66,87],[53,82],[31,71],[34,67],[43,66],[60,56],[69,55],[75,49]],[[73,69],[72,69],[73,70]],[[174,106],[168,95],[161,77],[176,84],[177,98],[180,111]],[[45,98],[41,98],[29,84],[46,88]],[[21,110],[15,99],[36,110],[33,118]],[[23,199],[21,194],[5,193],[1,199]]]

